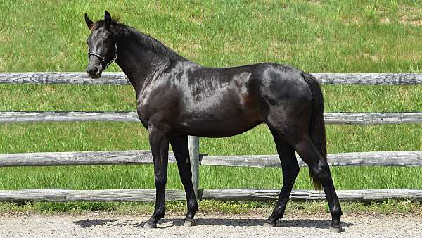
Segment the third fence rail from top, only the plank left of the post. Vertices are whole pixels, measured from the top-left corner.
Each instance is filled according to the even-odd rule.
[[[169,151],[169,161],[175,162]],[[0,154],[0,167],[153,163],[151,151],[81,151]]]

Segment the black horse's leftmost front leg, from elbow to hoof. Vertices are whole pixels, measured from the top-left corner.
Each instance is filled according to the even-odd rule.
[[[149,142],[154,161],[155,173],[155,209],[143,228],[157,227],[158,220],[165,214],[165,184],[167,182],[167,164],[169,156],[169,139],[164,132],[148,127]]]

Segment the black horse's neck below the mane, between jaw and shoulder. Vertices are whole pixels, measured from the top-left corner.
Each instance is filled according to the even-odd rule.
[[[148,84],[148,78],[170,63],[170,58],[141,46],[133,39],[120,39],[117,41],[116,63],[138,94]]]

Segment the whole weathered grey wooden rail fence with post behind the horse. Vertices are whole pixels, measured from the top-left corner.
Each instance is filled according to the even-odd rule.
[[[314,73],[323,84],[422,84],[419,73]],[[129,84],[122,73],[103,73],[92,80],[85,73],[0,73],[0,84]],[[422,123],[422,112],[417,113],[325,113],[328,124],[404,124]],[[0,112],[0,123],[110,121],[138,122],[134,112]],[[198,189],[199,165],[280,167],[276,155],[263,156],[207,156],[200,154],[198,137],[189,137],[192,181],[200,199],[219,200],[274,200],[279,190],[267,189]],[[170,162],[174,155],[169,154]],[[299,165],[306,166],[300,159]],[[333,166],[422,166],[422,151],[376,151],[328,154]],[[1,154],[0,167],[46,165],[110,165],[153,163],[151,151],[82,151],[60,153]],[[343,201],[384,199],[419,199],[422,190],[371,189],[340,190]],[[324,192],[293,191],[293,200],[324,199]],[[24,189],[0,190],[0,201],[154,201],[155,189],[65,190]],[[181,190],[168,190],[167,199],[185,199]]]

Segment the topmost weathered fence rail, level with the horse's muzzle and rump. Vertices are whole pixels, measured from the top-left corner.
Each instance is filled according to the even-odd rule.
[[[323,84],[422,84],[422,73],[312,73]],[[121,72],[93,80],[84,72],[0,73],[0,84],[129,84]]]

